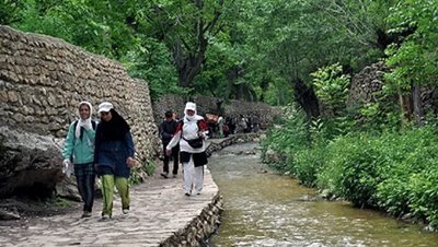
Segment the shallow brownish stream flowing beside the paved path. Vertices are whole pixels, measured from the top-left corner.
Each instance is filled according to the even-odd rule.
[[[224,201],[211,247],[438,246],[438,234],[420,225],[319,199],[262,164],[256,143],[228,146],[208,166]]]

